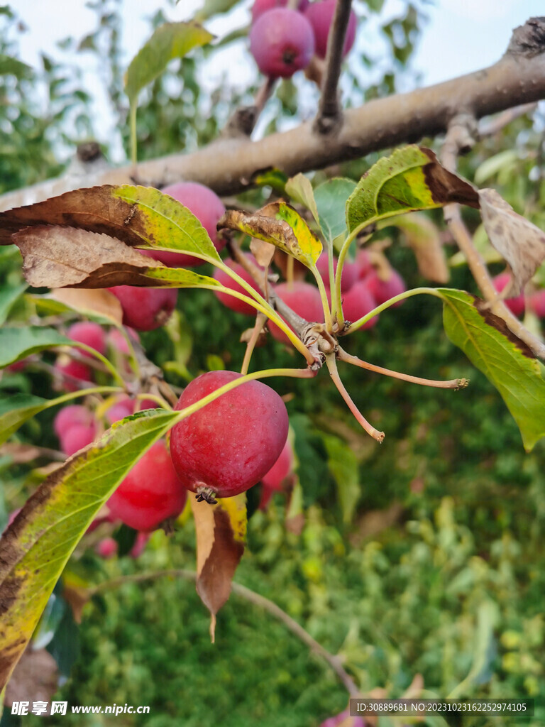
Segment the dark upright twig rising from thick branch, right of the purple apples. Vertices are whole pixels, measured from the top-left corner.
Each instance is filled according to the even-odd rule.
[[[342,119],[338,85],[339,76],[341,75],[344,39],[346,38],[351,11],[352,0],[337,0],[331,31],[329,31],[326,70],[323,74],[322,95],[315,121],[315,129],[320,134],[331,132]]]

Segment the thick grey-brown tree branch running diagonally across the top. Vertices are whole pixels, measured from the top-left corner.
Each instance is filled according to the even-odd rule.
[[[456,114],[465,111],[475,119],[506,108],[545,98],[545,18],[532,18],[514,31],[509,50],[498,63],[410,93],[366,103],[344,112],[342,129],[328,143],[313,132],[308,121],[288,132],[270,134],[251,142],[224,139],[191,154],[174,154],[137,166],[143,184],[166,185],[194,180],[217,193],[233,194],[251,185],[259,169],[275,166],[296,174],[328,164],[365,156],[371,151],[443,134]],[[0,209],[31,204],[70,189],[132,180],[134,169],[124,166],[86,178],[62,177],[41,182],[0,197]]]

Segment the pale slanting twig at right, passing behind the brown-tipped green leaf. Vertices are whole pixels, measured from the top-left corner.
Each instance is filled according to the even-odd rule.
[[[456,172],[458,154],[461,146],[465,144],[463,124],[461,117],[453,119],[453,124],[448,129],[445,138],[445,144],[441,153],[441,161],[443,165],[451,172]],[[491,312],[501,318],[509,331],[520,338],[530,348],[534,356],[545,359],[545,344],[537,336],[528,331],[528,329],[516,318],[509,308],[506,307],[501,297],[498,295],[494,287],[488,268],[483,257],[473,244],[472,236],[469,233],[464,220],[461,217],[459,204],[448,204],[443,209],[445,222],[448,225],[451,234],[459,246],[461,252],[464,253],[469,270],[471,270],[475,282],[479,286],[480,292],[490,305]]]

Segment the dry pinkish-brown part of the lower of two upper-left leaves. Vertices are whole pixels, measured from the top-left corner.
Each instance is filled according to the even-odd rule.
[[[23,275],[35,288],[108,288],[153,285],[145,273],[161,263],[101,233],[39,225],[20,230],[12,241],[23,255]]]

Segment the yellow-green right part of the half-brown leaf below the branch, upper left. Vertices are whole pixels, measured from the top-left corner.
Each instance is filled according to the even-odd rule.
[[[122,185],[111,188],[113,197],[140,212],[142,239],[154,248],[196,254],[203,260],[219,260],[219,254],[201,222],[187,207],[153,187]]]

